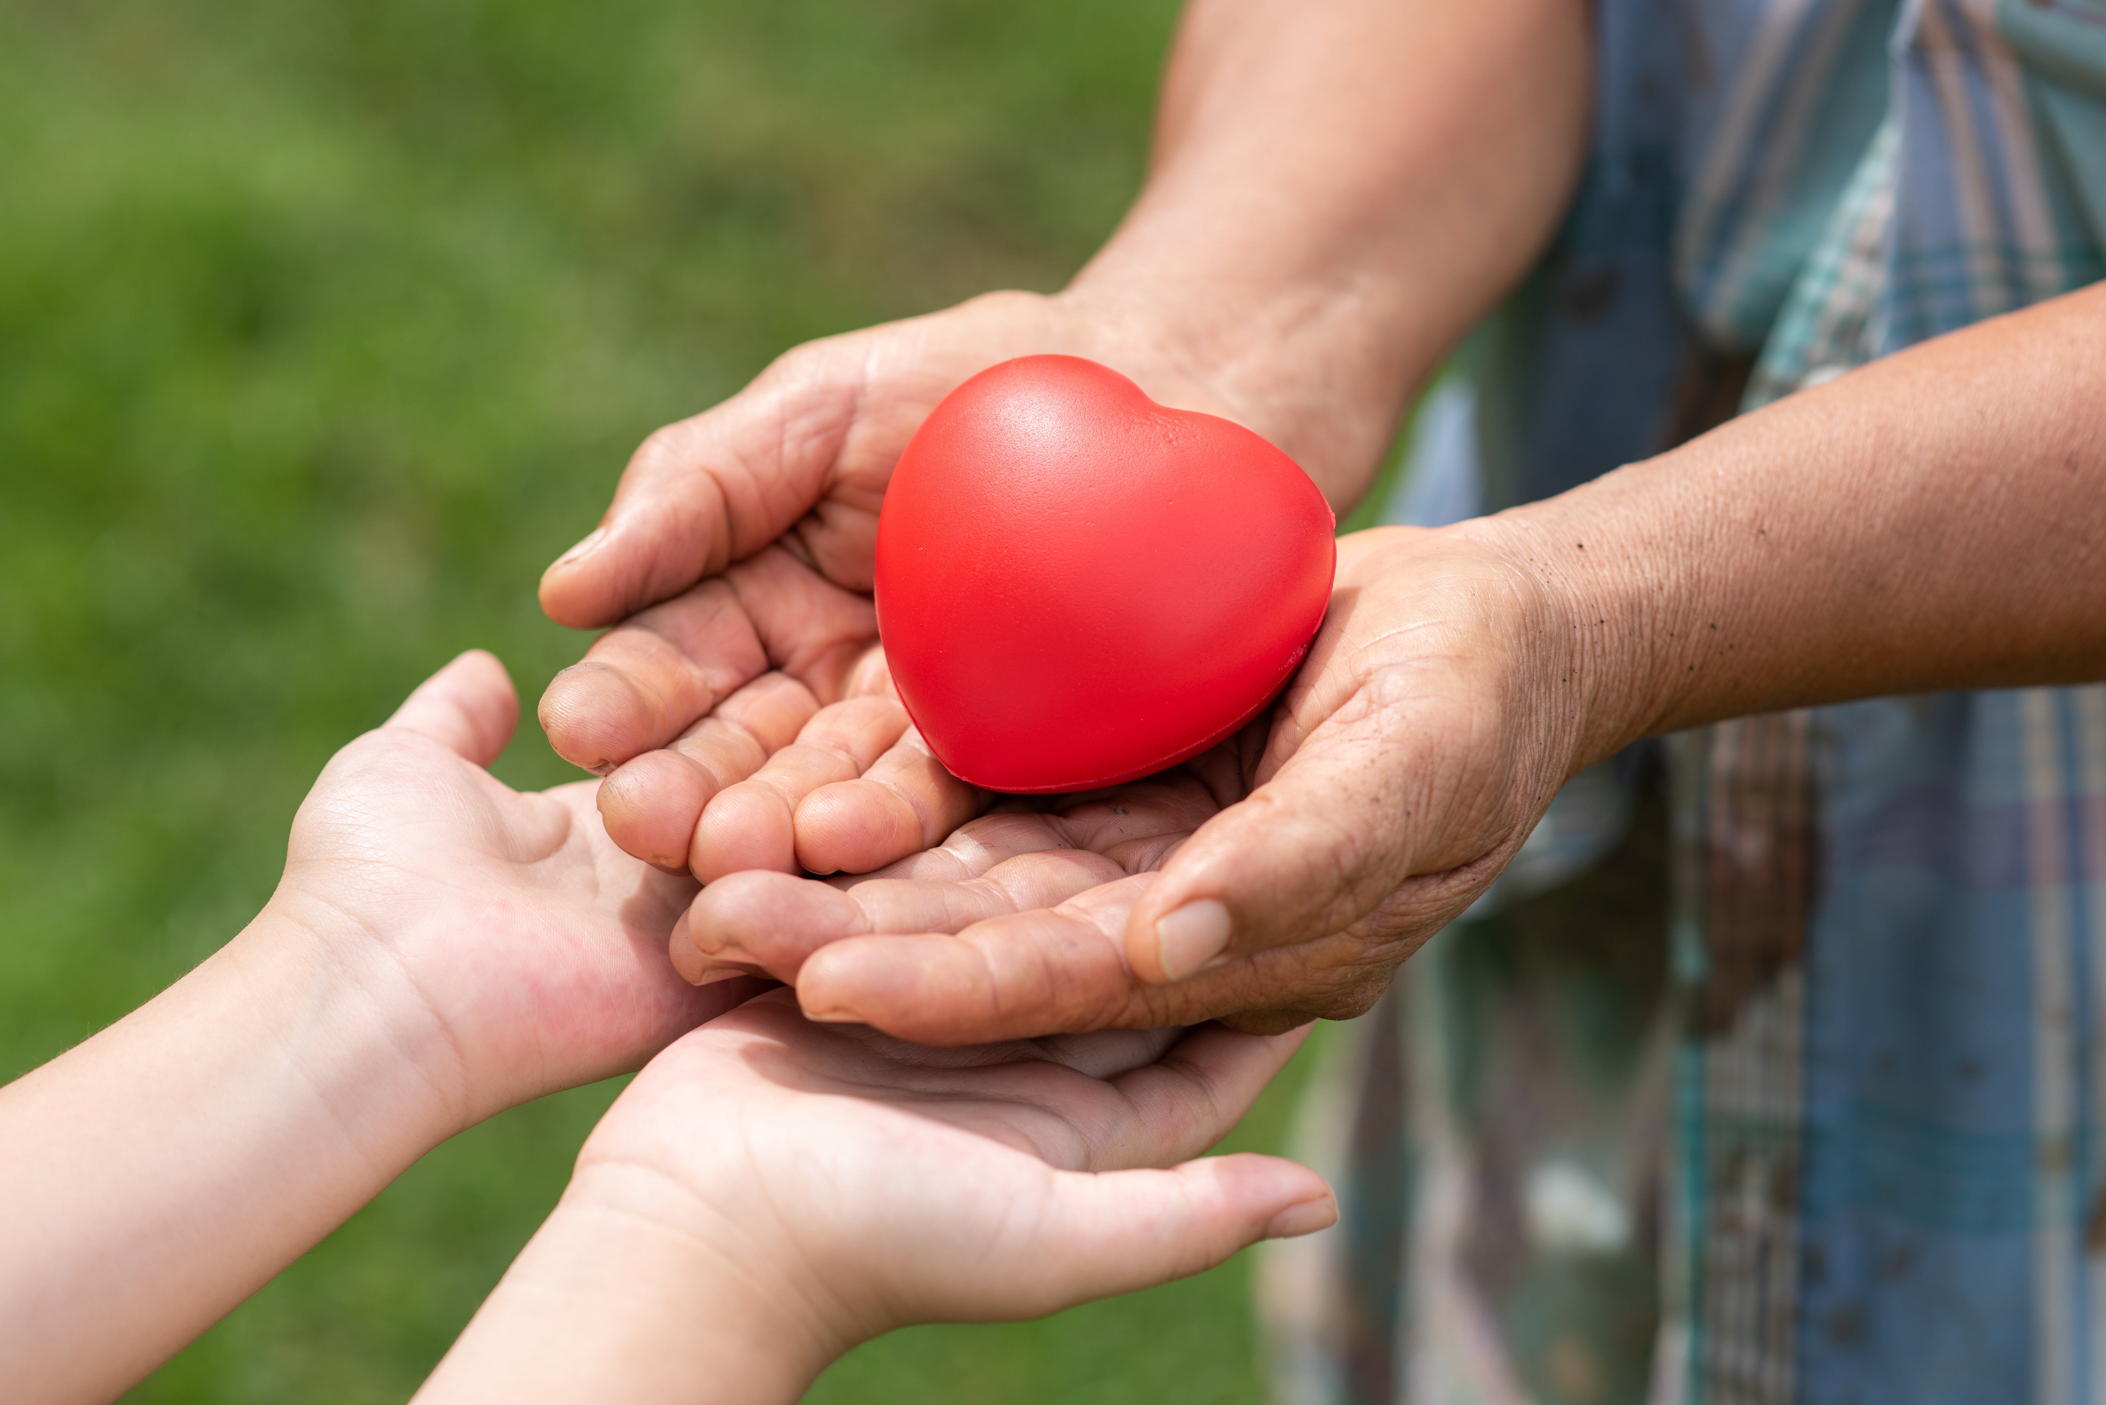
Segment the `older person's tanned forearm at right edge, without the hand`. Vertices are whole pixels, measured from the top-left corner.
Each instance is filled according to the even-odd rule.
[[[1588,758],[1750,712],[2106,678],[2106,284],[1453,531],[1573,602]]]

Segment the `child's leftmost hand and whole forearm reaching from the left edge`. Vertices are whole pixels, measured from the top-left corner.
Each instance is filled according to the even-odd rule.
[[[0,1399],[114,1399],[461,1127],[636,1068],[754,986],[695,990],[695,885],[592,786],[518,794],[468,653],[314,784],[270,906],[0,1089]]]

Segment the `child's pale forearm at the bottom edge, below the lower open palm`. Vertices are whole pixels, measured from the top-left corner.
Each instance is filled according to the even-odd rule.
[[[594,1182],[573,1182],[415,1405],[788,1405],[849,1346],[777,1251],[649,1171]]]

